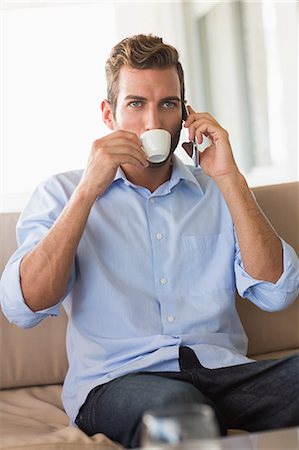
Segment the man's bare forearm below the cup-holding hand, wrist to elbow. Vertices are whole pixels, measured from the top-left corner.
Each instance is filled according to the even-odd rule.
[[[48,234],[23,258],[21,287],[33,311],[54,306],[63,296],[93,201],[84,189],[75,191]]]

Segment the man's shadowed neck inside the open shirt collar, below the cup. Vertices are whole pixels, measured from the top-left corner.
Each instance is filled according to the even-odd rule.
[[[121,168],[131,183],[143,186],[151,192],[154,192],[159,186],[165,183],[165,181],[170,179],[172,162],[171,159],[169,159],[160,167],[147,167],[145,169],[137,169],[128,164],[122,165]]]

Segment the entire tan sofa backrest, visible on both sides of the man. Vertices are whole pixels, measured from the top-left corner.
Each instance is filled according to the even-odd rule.
[[[299,253],[299,183],[253,189],[258,203],[278,232]],[[16,248],[18,213],[0,214],[0,273]],[[237,298],[237,308],[249,338],[249,354],[299,347],[299,301],[276,313],[261,311]],[[32,329],[8,323],[0,311],[0,388],[62,383],[66,370],[67,318],[49,317]]]

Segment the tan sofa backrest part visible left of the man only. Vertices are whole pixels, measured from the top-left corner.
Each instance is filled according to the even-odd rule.
[[[17,247],[19,213],[0,214],[0,274]],[[36,327],[10,324],[0,310],[0,389],[62,383],[67,371],[67,317],[49,317]]]

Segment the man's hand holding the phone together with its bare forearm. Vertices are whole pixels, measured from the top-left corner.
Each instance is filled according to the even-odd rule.
[[[196,113],[190,106],[188,112],[184,126],[189,129],[190,141],[197,138],[201,143],[203,136],[210,140],[209,147],[200,153],[200,165],[226,200],[245,270],[253,278],[275,283],[283,272],[281,241],[237,168],[227,131],[208,113]]]

